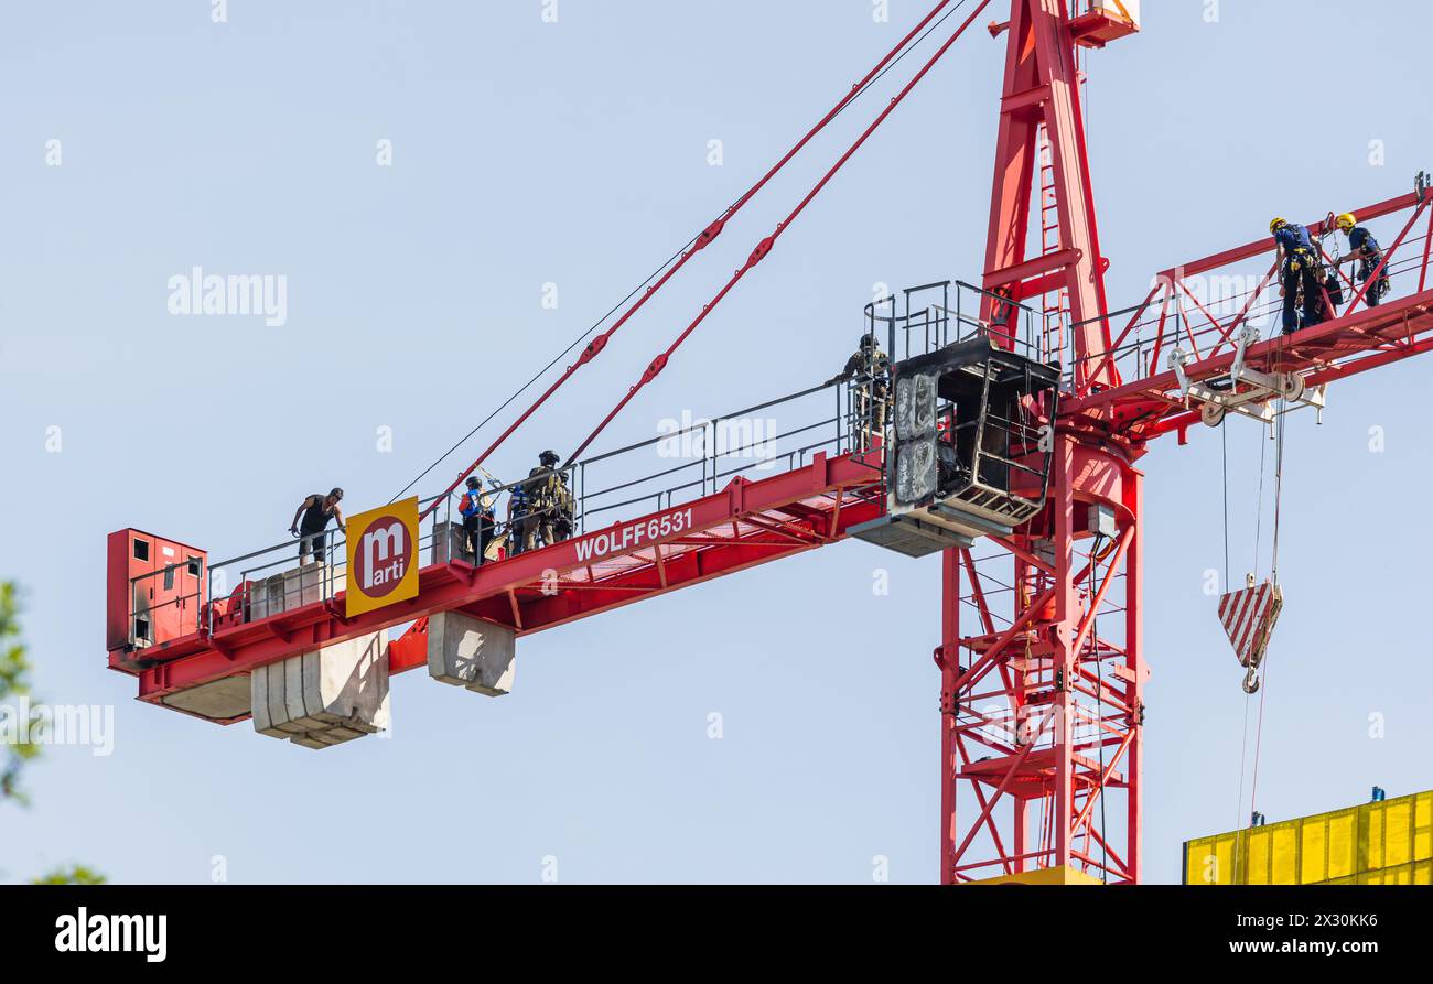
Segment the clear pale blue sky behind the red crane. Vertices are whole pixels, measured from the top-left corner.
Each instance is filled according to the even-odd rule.
[[[868,0],[560,0],[555,24],[540,0],[234,0],[225,24],[209,6],[0,7],[0,577],[27,590],[39,692],[116,706],[112,756],[53,749],[29,775],[34,806],[0,809],[3,877],[83,861],[116,881],[202,882],[222,855],[232,881],[533,882],[550,855],[565,882],[870,882],[884,855],[891,881],[931,881],[934,559],[848,543],[543,633],[497,702],[407,675],[393,741],[321,755],[136,703],[105,669],[102,622],[112,530],[234,556],[282,539],[312,490],[387,501],[929,4],[891,0],[886,24]],[[1145,7],[1145,34],[1091,64],[1121,302],[1275,212],[1381,201],[1433,168],[1424,4],[1225,0],[1215,23],[1204,0]],[[972,32],[610,438],[824,380],[876,282],[977,276],[1002,56]],[[500,470],[586,433],[884,97],[843,116]],[[380,139],[391,168],[374,162]],[[288,322],[171,317],[166,282],[195,265],[285,275]],[[1430,374],[1360,377],[1323,427],[1291,427],[1260,772],[1271,818],[1374,783],[1433,786],[1413,521],[1433,477]],[[1230,431],[1235,573],[1260,440]],[[1202,593],[1222,567],[1219,443],[1169,441],[1144,467],[1145,851],[1148,877],[1172,881],[1185,838],[1247,809],[1245,706]]]

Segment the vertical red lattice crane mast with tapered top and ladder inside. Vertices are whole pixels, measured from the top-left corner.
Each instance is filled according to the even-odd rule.
[[[1096,7],[1070,17],[1063,0],[1015,0],[1010,20],[992,26],[1007,53],[983,317],[1010,325],[1013,304],[1066,298],[1045,305],[1058,314],[1045,314],[1036,334],[1043,357],[1072,370],[1070,395],[1116,381],[1113,365],[1088,358],[1109,351],[1109,325],[1076,56],[1080,44],[1131,33],[1136,24],[1122,14]],[[1043,251],[1027,256],[1036,219]],[[1003,543],[992,540],[1000,547],[993,557],[977,560],[969,549],[943,557],[936,663],[946,884],[1036,871],[1078,878],[1076,868],[1101,881],[1139,879],[1148,672],[1138,454],[1065,421],[1052,440],[1045,511]],[[1009,597],[1006,612],[995,610],[997,596]],[[976,613],[974,624],[966,613]],[[1106,799],[1119,801],[1115,818]]]

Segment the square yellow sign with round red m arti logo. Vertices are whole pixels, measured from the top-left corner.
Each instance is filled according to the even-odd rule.
[[[348,617],[418,596],[418,500],[406,498],[348,520]]]

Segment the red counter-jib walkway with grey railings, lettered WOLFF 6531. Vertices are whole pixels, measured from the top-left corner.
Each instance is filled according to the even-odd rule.
[[[575,536],[480,566],[454,549],[444,496],[418,543],[427,563],[417,597],[354,617],[342,539],[328,563],[308,567],[294,566],[292,543],[212,564],[202,579],[209,597],[176,602],[192,613],[182,627],[112,652],[110,666],[139,677],[140,700],[232,723],[249,713],[215,712],[212,702],[196,712],[176,696],[411,624],[388,647],[388,670],[400,673],[426,662],[431,614],[459,612],[523,636],[837,543],[886,508],[880,448],[856,447],[851,407],[851,385],[830,382],[569,466]],[[228,596],[212,587],[229,580],[225,571],[236,579]]]

